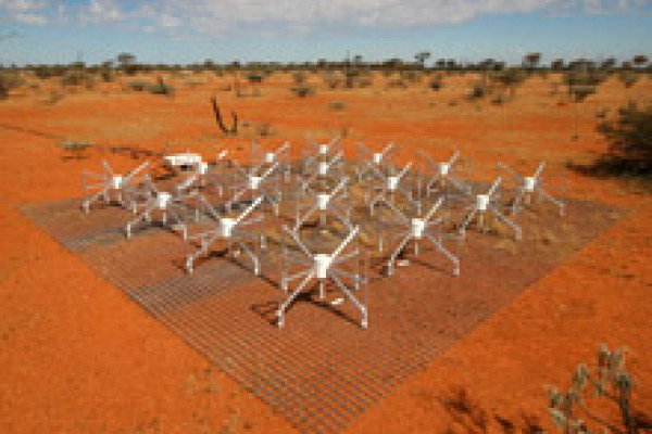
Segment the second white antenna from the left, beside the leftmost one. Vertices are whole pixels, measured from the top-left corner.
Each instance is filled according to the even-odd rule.
[[[189,180],[192,180],[189,182]],[[174,192],[160,191],[149,179],[146,179],[146,188],[148,193],[142,203],[137,204],[135,213],[138,216],[127,222],[125,232],[127,238],[131,238],[134,227],[146,222],[152,225],[152,215],[161,215],[161,225],[168,226],[168,216],[180,228],[184,240],[188,237],[188,226],[186,220],[181,218],[183,214],[187,214],[188,205],[186,200],[195,194],[192,190],[196,177],[190,177],[184,182],[175,186]]]

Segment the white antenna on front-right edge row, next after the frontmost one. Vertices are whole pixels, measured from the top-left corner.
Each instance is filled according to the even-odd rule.
[[[441,208],[443,204],[443,196],[439,197],[437,203],[428,210],[428,213],[421,218],[408,218],[401,210],[394,207],[392,204],[389,205],[390,209],[393,210],[396,217],[399,218],[399,224],[402,224],[404,230],[397,233],[394,238],[400,238],[401,242],[393,250],[387,261],[387,273],[393,275],[394,264],[398,256],[404,252],[405,247],[410,242],[414,243],[414,254],[418,255],[419,242],[424,239],[430,241],[430,243],[441,252],[447,258],[453,263],[453,275],[460,275],[460,259],[453,255],[448,248],[443,246],[442,239],[447,237],[442,231],[437,230],[438,226],[443,222],[443,217],[434,218],[436,213]],[[449,235],[450,237],[450,235]]]

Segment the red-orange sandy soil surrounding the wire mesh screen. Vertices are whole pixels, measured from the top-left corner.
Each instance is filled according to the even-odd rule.
[[[172,99],[110,84],[67,92],[52,104],[50,84],[20,89],[0,103],[0,432],[293,431],[18,210],[80,195],[82,168],[98,167],[102,158],[118,169],[134,165],[111,146],[170,145],[211,156],[213,145],[247,149],[256,126],[269,124],[273,136],[262,139],[269,146],[286,139],[302,145],[308,132],[321,139],[344,132],[349,149],[355,141],[379,148],[394,140],[405,158],[416,146],[440,158],[457,148],[480,174],[497,161],[530,170],[546,159],[554,169],[569,161],[590,163],[605,150],[594,131],[598,111],[607,107],[613,116],[628,100],[649,102],[652,95],[647,78],[631,89],[612,79],[587,101],[572,103],[551,94],[551,82],[561,77],[550,76],[530,79],[514,101],[494,106],[464,99],[474,79],[466,76],[447,77],[440,92],[425,82],[385,90],[378,78],[368,89],[319,88],[299,99],[288,90],[291,79],[276,76],[260,98],[237,99],[217,90],[226,78],[196,79],[202,81],[196,88],[173,80]],[[213,94],[225,114],[236,110],[252,126],[237,138],[220,138],[209,104]],[[333,101],[347,107],[334,110]],[[92,141],[88,158],[66,158],[59,146],[66,138]],[[569,189],[573,196],[630,214],[348,433],[552,432],[546,385],[567,386],[576,365],[592,362],[602,342],[631,348],[636,409],[652,412],[652,200],[634,183],[573,171]],[[454,403],[461,391],[468,412]]]

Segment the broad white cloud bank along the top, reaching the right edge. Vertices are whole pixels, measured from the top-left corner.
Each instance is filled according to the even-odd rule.
[[[575,8],[585,13],[625,11],[650,0],[160,0],[166,12],[192,28],[221,34],[244,26],[252,30],[323,28],[328,25],[414,27],[460,24],[482,15],[551,13]],[[261,28],[261,31],[265,29]]]

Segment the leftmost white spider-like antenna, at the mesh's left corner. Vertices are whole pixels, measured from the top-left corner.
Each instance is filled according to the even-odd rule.
[[[126,175],[115,174],[105,159],[102,161],[102,168],[101,174],[86,169],[82,171],[82,188],[84,189],[82,208],[89,213],[90,205],[101,200],[105,204],[117,202],[122,207],[135,212],[136,189],[145,177],[149,177],[149,162],[142,163]],[[140,177],[141,173],[142,177]]]

